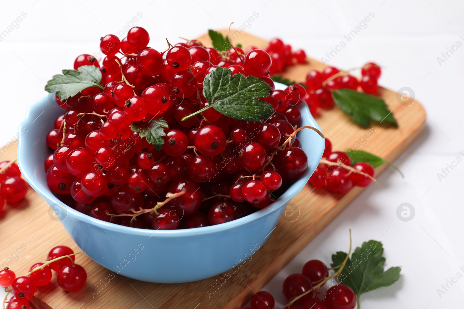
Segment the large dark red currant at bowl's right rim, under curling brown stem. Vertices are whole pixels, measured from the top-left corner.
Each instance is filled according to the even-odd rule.
[[[302,176],[308,168],[308,157],[299,147],[277,152],[274,161],[274,165],[279,174],[287,179],[294,179]]]

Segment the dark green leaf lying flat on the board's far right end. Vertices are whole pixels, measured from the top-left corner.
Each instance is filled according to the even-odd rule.
[[[387,104],[379,97],[351,89],[334,90],[332,97],[338,107],[362,127],[369,126],[371,120],[386,121],[398,126]]]

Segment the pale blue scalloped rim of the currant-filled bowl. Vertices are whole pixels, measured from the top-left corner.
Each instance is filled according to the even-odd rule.
[[[276,84],[276,89],[284,89],[287,86],[284,84],[280,83],[275,83]],[[41,101],[48,101],[47,97],[42,99]],[[32,114],[35,112],[35,110],[39,107],[41,107],[42,104],[41,101],[38,101],[34,103],[31,107],[28,108],[26,112],[26,118],[23,120],[20,125],[19,125],[19,132],[21,132],[21,129],[25,127],[27,124],[32,123],[31,122],[31,117]],[[311,126],[316,127],[320,131],[322,131],[321,127],[316,123],[316,120],[314,120],[313,116],[309,112],[308,105],[303,101],[302,103],[298,104],[296,106],[302,116],[304,115],[305,117],[308,117],[308,121]],[[34,120],[35,121],[35,120]],[[314,134],[317,134],[316,132],[313,132]],[[300,135],[300,132],[297,133],[297,136]],[[98,220],[96,218],[92,218],[89,215],[83,214],[76,209],[73,209],[66,205],[64,202],[61,202],[58,200],[58,198],[52,194],[52,191],[44,191],[41,189],[39,185],[37,185],[35,182],[36,180],[33,179],[33,176],[29,174],[29,168],[25,166],[25,162],[27,161],[24,158],[27,154],[25,151],[23,151],[24,148],[27,148],[27,145],[24,144],[25,139],[24,138],[19,138],[19,143],[18,143],[18,165],[19,169],[21,170],[21,173],[23,174],[23,177],[26,178],[27,182],[31,185],[31,187],[39,193],[40,196],[42,196],[47,202],[52,203],[51,205],[57,204],[61,208],[64,208],[66,210],[66,217],[70,214],[74,216],[76,219],[84,221],[85,223],[91,224],[91,225],[97,225],[98,227],[101,227],[103,229],[108,229],[110,231],[114,232],[119,232],[119,233],[126,233],[126,234],[132,234],[134,236],[146,236],[148,238],[152,236],[156,237],[181,237],[181,236],[198,236],[201,234],[210,234],[210,233],[216,233],[219,231],[226,231],[230,230],[234,227],[245,225],[247,223],[250,223],[252,221],[256,221],[267,214],[271,214],[274,211],[277,211],[279,208],[284,206],[285,202],[290,201],[291,198],[293,198],[298,192],[300,192],[304,185],[308,182],[309,177],[311,176],[309,174],[310,169],[308,168],[305,173],[299,177],[299,179],[296,179],[296,181],[290,185],[290,187],[285,190],[285,192],[279,196],[274,202],[269,204],[268,206],[252,213],[248,214],[245,217],[229,221],[226,223],[218,224],[218,225],[213,225],[213,226],[207,226],[207,227],[195,227],[195,228],[189,228],[189,229],[176,229],[176,230],[149,230],[149,229],[142,229],[142,228],[136,228],[136,227],[125,227],[121,226],[118,224]],[[324,139],[322,139],[322,143],[324,143]],[[321,153],[322,156],[322,153]],[[31,170],[32,171],[32,170]],[[35,177],[34,177],[35,178]],[[292,193],[295,192],[295,194],[292,195]],[[51,206],[50,205],[50,206]],[[277,207],[274,207],[276,205]],[[66,220],[66,217],[64,217],[63,220]],[[61,221],[61,220],[60,220]]]

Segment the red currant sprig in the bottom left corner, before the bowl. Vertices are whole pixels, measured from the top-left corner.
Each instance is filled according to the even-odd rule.
[[[63,290],[76,292],[82,289],[87,281],[87,273],[82,266],[74,264],[74,260],[70,247],[56,246],[48,253],[47,261],[32,265],[26,276],[16,277],[8,267],[1,270],[0,286],[13,294],[6,309],[29,309],[29,300],[37,292],[37,287],[46,286],[52,281],[52,270],[57,272],[57,282]]]

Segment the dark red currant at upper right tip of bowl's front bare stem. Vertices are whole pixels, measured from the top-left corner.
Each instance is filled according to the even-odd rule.
[[[184,188],[186,193],[172,199],[168,204],[174,206],[180,216],[194,214],[203,201],[200,186],[187,178],[171,183],[167,192],[178,193]]]

